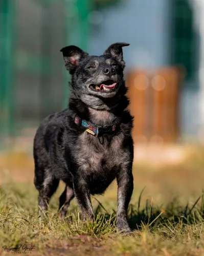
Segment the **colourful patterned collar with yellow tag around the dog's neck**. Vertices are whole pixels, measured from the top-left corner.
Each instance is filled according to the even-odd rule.
[[[104,125],[104,126],[99,126],[99,125],[94,125],[84,119],[81,119],[77,115],[75,115],[74,122],[78,126],[83,126],[86,128],[86,132],[90,133],[96,137],[98,137],[99,134],[103,133],[113,133],[116,132],[118,126],[120,125],[120,118],[117,118],[118,120],[112,124]]]

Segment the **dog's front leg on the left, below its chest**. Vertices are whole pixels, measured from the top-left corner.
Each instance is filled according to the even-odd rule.
[[[77,199],[78,205],[81,209],[82,219],[94,218],[94,212],[92,208],[92,202],[90,201],[90,193],[87,188],[86,182],[79,178],[74,178],[74,194]]]

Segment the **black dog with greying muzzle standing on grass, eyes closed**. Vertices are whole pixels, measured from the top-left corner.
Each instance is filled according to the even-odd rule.
[[[116,178],[117,227],[130,231],[132,117],[127,110],[122,52],[128,45],[113,44],[101,56],[89,56],[76,46],[61,50],[72,75],[69,108],[45,118],[34,139],[34,183],[42,210],[47,210],[62,180],[66,187],[59,199],[61,217],[76,197],[83,218],[93,218],[90,194],[102,194]]]

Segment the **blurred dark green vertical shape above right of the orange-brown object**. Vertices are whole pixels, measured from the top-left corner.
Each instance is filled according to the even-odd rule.
[[[199,35],[195,29],[195,12],[190,1],[171,0],[171,50],[172,65],[183,65],[186,69],[186,80],[194,81],[198,71]],[[188,82],[195,89],[198,84]],[[193,89],[192,88],[192,89]]]

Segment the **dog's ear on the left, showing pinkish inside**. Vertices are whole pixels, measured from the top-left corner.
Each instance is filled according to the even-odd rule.
[[[88,53],[84,52],[77,46],[66,46],[60,50],[62,52],[65,67],[72,74],[79,62],[88,56]]]

